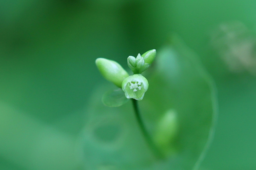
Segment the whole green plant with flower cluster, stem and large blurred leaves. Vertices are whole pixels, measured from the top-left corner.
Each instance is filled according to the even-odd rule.
[[[127,62],[131,76],[115,61],[96,60],[118,89],[100,86],[94,94],[84,131],[86,166],[196,170],[213,134],[211,78],[177,36],[157,56],[151,50]]]

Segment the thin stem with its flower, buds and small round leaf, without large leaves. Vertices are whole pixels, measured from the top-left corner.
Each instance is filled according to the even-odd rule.
[[[96,65],[104,78],[106,78],[106,80],[113,82],[118,87],[120,87],[121,85],[123,91],[122,92],[121,90],[114,90],[111,93],[107,92],[107,94],[105,94],[103,97],[104,104],[110,107],[121,106],[128,101],[120,100],[120,98],[124,98],[122,97],[124,95],[127,99],[132,99],[134,112],[142,134],[144,135],[144,138],[146,139],[148,145],[150,146],[156,157],[163,158],[161,151],[158,149],[158,146],[154,143],[154,140],[150,137],[148,131],[144,126],[137,103],[137,100],[143,99],[144,94],[148,90],[149,86],[148,80],[144,76],[142,76],[141,73],[148,69],[148,67],[153,63],[155,57],[155,49],[147,51],[142,56],[139,53],[136,58],[133,56],[129,56],[127,58],[127,63],[128,66],[132,69],[132,72],[134,73],[131,76],[128,76],[126,70],[124,70],[124,68],[122,68],[122,66],[120,66],[120,64],[116,63],[115,61],[98,58],[96,59]],[[119,95],[117,95],[118,93]],[[169,137],[167,136],[167,138]]]

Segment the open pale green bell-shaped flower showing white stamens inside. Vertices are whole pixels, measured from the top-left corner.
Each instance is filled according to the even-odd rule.
[[[148,90],[148,80],[141,74],[134,74],[122,82],[122,90],[126,98],[142,100]]]

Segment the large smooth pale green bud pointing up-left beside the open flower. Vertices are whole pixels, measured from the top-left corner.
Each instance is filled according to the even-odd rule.
[[[129,76],[126,70],[116,61],[98,58],[95,63],[102,76],[120,88],[123,80]]]

